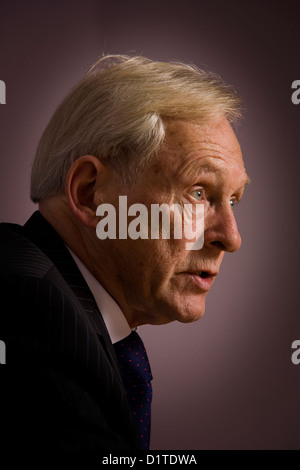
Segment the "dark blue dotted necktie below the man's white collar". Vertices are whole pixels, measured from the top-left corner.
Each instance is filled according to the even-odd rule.
[[[145,346],[140,336],[132,331],[129,336],[114,343],[114,348],[141,448],[147,450],[150,442],[152,373]]]

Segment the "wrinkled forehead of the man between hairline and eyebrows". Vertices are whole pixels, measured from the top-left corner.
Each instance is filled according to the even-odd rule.
[[[235,133],[225,118],[206,124],[184,121],[166,122],[163,147],[166,160],[172,160],[176,173],[195,170],[246,172]]]

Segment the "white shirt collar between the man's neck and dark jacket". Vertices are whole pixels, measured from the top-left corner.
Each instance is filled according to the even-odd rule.
[[[126,338],[126,336],[130,335],[131,329],[119,305],[100,282],[97,281],[78,256],[75,255],[68,246],[67,248],[94,296],[112,343]]]

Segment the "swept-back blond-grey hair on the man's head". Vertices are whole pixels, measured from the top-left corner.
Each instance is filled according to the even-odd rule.
[[[101,57],[59,105],[31,173],[31,199],[63,194],[77,158],[94,155],[130,182],[157,154],[165,121],[241,116],[241,100],[217,75],[179,62]]]

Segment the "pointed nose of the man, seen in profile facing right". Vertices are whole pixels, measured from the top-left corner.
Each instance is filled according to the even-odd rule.
[[[210,211],[209,211],[210,212]],[[204,245],[215,246],[233,253],[242,243],[234,212],[229,204],[222,204],[205,217]]]

